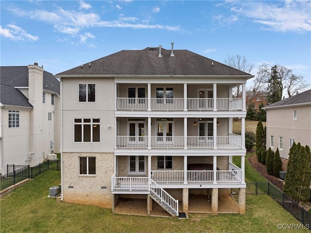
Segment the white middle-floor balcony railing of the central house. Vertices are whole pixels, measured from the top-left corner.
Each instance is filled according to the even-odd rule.
[[[230,136],[217,136],[214,147],[214,137],[188,136],[187,147],[189,149],[239,149],[242,148],[242,136],[230,134]],[[147,148],[148,136],[117,136],[117,148]],[[151,136],[150,148],[185,148],[184,136]]]

